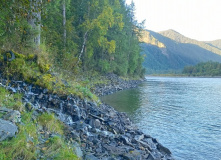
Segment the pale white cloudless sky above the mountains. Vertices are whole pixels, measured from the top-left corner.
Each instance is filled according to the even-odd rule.
[[[174,29],[199,41],[221,39],[221,0],[133,0],[136,18],[155,32]],[[130,4],[131,0],[126,0]]]

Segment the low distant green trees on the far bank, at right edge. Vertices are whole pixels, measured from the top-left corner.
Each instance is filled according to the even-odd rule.
[[[183,73],[189,76],[221,76],[221,63],[201,62],[195,66],[186,66]]]

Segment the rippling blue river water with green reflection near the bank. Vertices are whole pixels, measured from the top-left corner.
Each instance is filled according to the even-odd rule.
[[[146,77],[102,97],[177,160],[221,160],[221,78]]]

